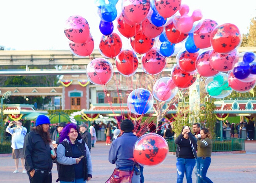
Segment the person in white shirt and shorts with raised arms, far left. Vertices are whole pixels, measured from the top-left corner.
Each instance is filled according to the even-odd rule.
[[[17,127],[11,128],[13,124],[16,124]],[[22,126],[22,121],[11,121],[6,128],[6,132],[12,135],[12,158],[15,160],[15,171],[13,173],[18,173],[19,168],[19,158],[21,160],[22,165],[22,173],[26,174],[26,169],[24,166],[25,160],[23,158],[23,144],[24,144],[24,137],[27,134],[27,129]]]

